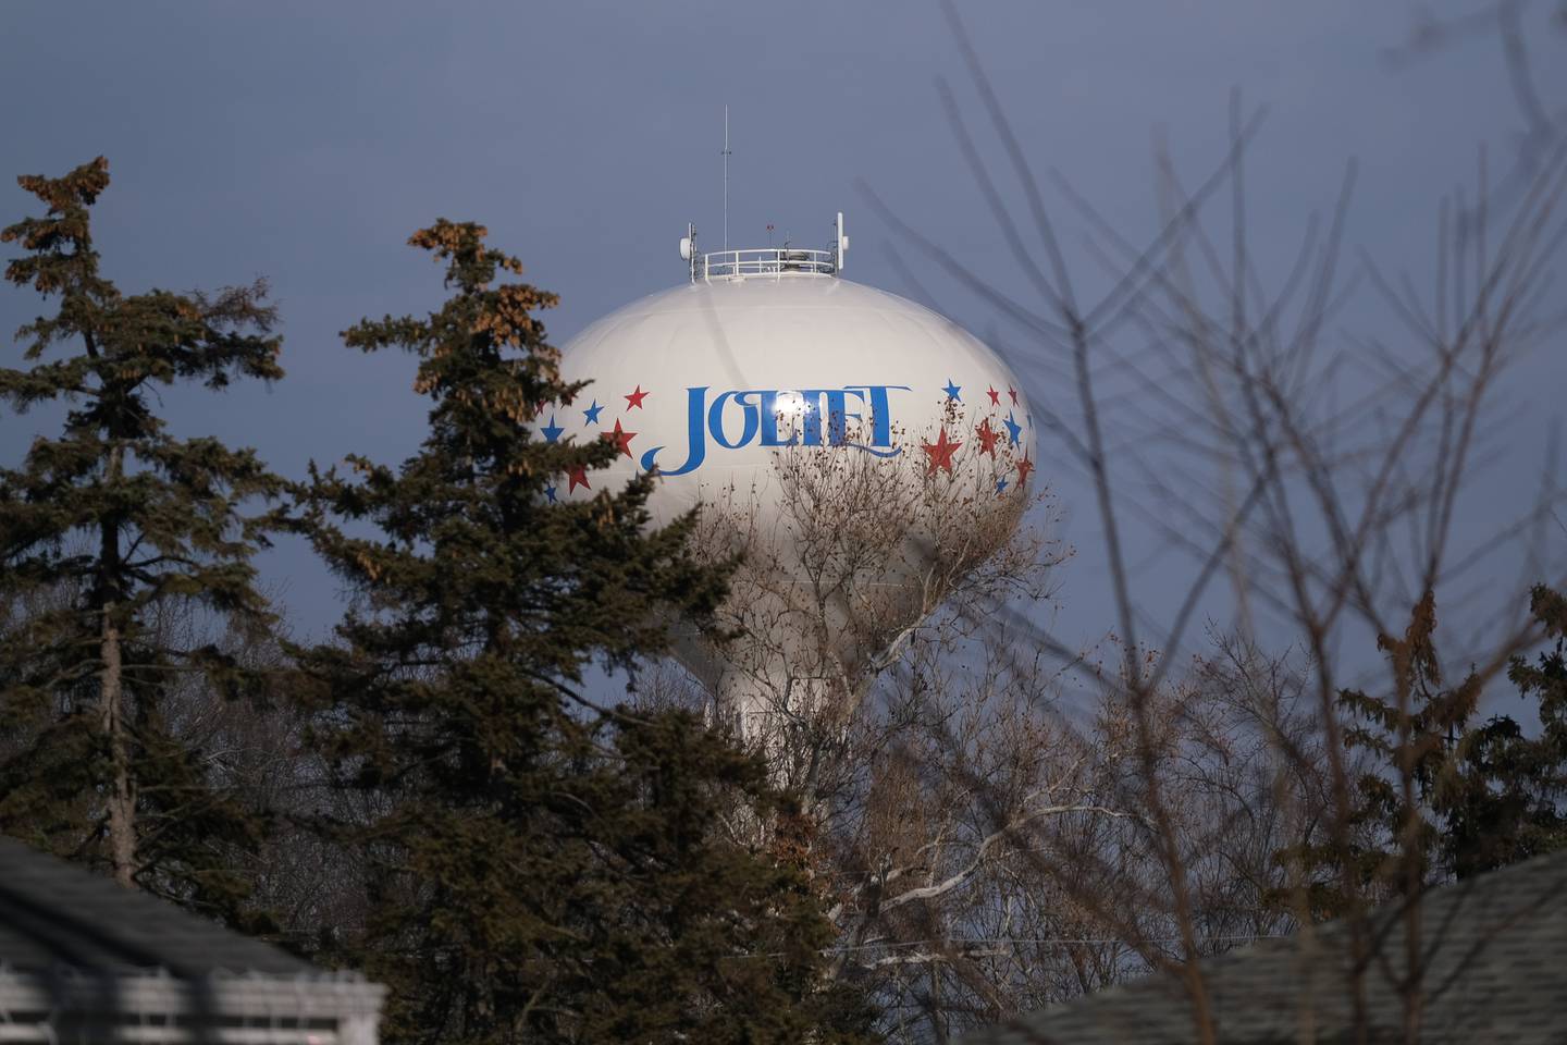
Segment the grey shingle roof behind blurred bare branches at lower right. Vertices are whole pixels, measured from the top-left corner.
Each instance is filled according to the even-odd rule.
[[[1407,909],[1370,920],[1370,1040],[1402,1040]],[[1421,1042],[1567,1040],[1567,852],[1426,893],[1420,907]],[[1351,932],[1316,926],[1202,962],[1219,1042],[1352,1042]],[[964,1045],[1196,1040],[1191,1001],[1158,974],[978,1031]]]

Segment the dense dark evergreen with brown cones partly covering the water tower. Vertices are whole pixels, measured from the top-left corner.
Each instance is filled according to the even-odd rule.
[[[536,439],[569,401],[533,315],[553,295],[484,229],[411,243],[453,295],[426,318],[345,340],[418,357],[429,434],[400,468],[312,465],[306,526],[357,605],[301,650],[312,746],[343,794],[332,835],[370,862],[371,913],[342,959],[392,985],[393,1042],[845,1042],[868,1015],[826,990],[832,931],[798,866],[719,837],[766,816],[763,768],[688,714],[602,708],[599,658],[661,649],[722,577],[685,551],[691,519],[649,530],[644,476],[550,504],[610,442]],[[752,821],[754,823],[754,821]]]

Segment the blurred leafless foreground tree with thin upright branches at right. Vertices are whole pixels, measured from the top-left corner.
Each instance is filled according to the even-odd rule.
[[[1257,902],[1280,887],[1296,896],[1296,918],[1310,913],[1301,906],[1299,868],[1293,885],[1258,874],[1263,854],[1280,841],[1304,830],[1326,838],[1348,898],[1357,968],[1366,967],[1374,948],[1363,927],[1379,896],[1354,873],[1355,768],[1346,755],[1337,694],[1351,683],[1373,688],[1399,710],[1398,776],[1412,799],[1412,671],[1407,656],[1381,666],[1357,663],[1343,642],[1363,636],[1366,644],[1381,638],[1396,645],[1428,592],[1471,597],[1473,570],[1489,567],[1520,536],[1540,533],[1551,517],[1556,498],[1547,484],[1533,506],[1493,515],[1492,533],[1473,547],[1459,544],[1460,498],[1475,468],[1496,450],[1498,381],[1522,353],[1561,329],[1548,291],[1550,263],[1564,233],[1558,204],[1567,188],[1567,155],[1559,141],[1551,144],[1523,188],[1498,197],[1481,152],[1475,188],[1437,207],[1424,295],[1366,254],[1344,262],[1351,165],[1330,213],[1307,224],[1293,266],[1271,288],[1250,243],[1244,177],[1261,121],[1236,100],[1230,147],[1207,177],[1188,183],[1167,157],[1156,157],[1166,219],[1141,243],[1066,179],[1050,179],[1066,213],[1089,230],[1089,259],[1097,268],[1091,280],[1067,262],[1058,233],[1061,205],[1045,202],[1044,185],[956,11],[948,8],[948,14],[1000,165],[976,144],[945,85],[942,99],[957,147],[1034,299],[1000,293],[870,196],[906,243],[993,310],[1008,331],[1015,367],[1036,379],[1058,376],[1070,390],[1070,403],[1034,400],[1040,403],[1036,417],[1055,440],[1053,459],[1073,468],[1094,500],[1105,545],[1119,664],[1092,682],[1111,689],[1106,707],[1114,710],[1111,721],[1127,758],[1116,763],[1124,776],[1106,793],[1120,801],[1103,804],[1128,813],[1125,829],[1136,840],[1113,852],[1142,857],[1138,871],[1149,904],[1135,910],[1155,913],[1152,923],[1164,926],[1158,932],[1166,935],[1153,937],[1127,909],[1092,890],[1077,887],[1072,896],[1105,920],[1109,937],[1150,967],[1182,978],[1194,1036],[1213,1040],[1197,959],[1229,935],[1249,938],[1287,927],[1287,920],[1274,920]],[[1000,186],[1003,171],[1015,182],[1017,205]],[[1095,282],[1108,290],[1086,296],[1083,288]],[[1343,332],[1351,318],[1365,323],[1366,332]],[[1518,503],[1528,504],[1526,497]],[[1149,541],[1164,542],[1191,562],[1189,586],[1169,614],[1150,613],[1158,600],[1139,591],[1130,547]],[[1533,561],[1545,567],[1543,556]],[[1482,614],[1495,624],[1476,628],[1457,650],[1454,660],[1475,664],[1476,685],[1495,678],[1509,656],[1536,639],[1533,625],[1515,613],[1522,603],[1515,592],[1503,592],[1500,605]],[[1239,638],[1227,639],[1221,649],[1230,652],[1214,661],[1177,667],[1191,663],[1185,655],[1189,633],[1216,605],[1225,605],[1233,620],[1229,630]],[[1092,675],[1048,625],[1017,614],[1008,627],[1017,660],[1045,655],[1066,675]],[[1030,639],[1019,641],[1025,631]],[[1299,650],[1297,680],[1288,686],[1296,699],[1276,702],[1271,713],[1247,711],[1249,724],[1235,732],[1229,716],[1255,688],[1258,636],[1283,636]],[[1236,650],[1247,652],[1238,656]],[[1265,677],[1277,682],[1272,671]],[[1308,713],[1301,711],[1302,697]],[[1207,752],[1203,758],[1183,754],[1192,743]],[[1250,796],[1222,799],[1227,791],[1247,794],[1236,791],[1247,780]],[[1288,801],[1254,808],[1269,794],[1260,786],[1265,782],[1293,782]],[[1028,844],[1026,832],[1012,824],[1008,791],[978,783],[984,783],[990,829],[1008,832],[1037,879],[1073,882],[1083,854],[1064,843]],[[1417,804],[1409,801],[1406,808]],[[1241,827],[1246,844],[1236,846],[1225,832]],[[1418,895],[1426,882],[1407,852],[1412,830],[1402,835],[1406,860],[1396,887],[1412,898],[1404,907],[1407,949],[1381,957],[1399,968],[1404,1034],[1412,1040],[1423,1006]],[[1235,890],[1250,890],[1250,898],[1221,902]],[[1252,932],[1224,932],[1235,926]],[[1346,990],[1368,1034],[1363,984],[1354,979]]]

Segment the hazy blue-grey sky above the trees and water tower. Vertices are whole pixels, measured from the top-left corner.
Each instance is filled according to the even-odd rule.
[[[1440,194],[1471,177],[1482,144],[1507,161],[1525,128],[1490,38],[1388,61],[1420,11],[1476,3],[959,6],[1030,161],[1135,238],[1156,229],[1155,143],[1194,182],[1224,155],[1232,92],[1266,107],[1247,179],[1260,266],[1274,279],[1310,213],[1332,207],[1351,160],[1352,249],[1418,266]],[[1559,113],[1567,33],[1551,14],[1536,3],[1526,19],[1540,94]],[[224,395],[176,390],[165,407],[176,431],[252,445],[287,476],[310,459],[400,461],[417,447],[423,406],[411,362],[360,356],[337,337],[360,316],[440,299],[437,271],[404,246],[414,229],[437,216],[489,226],[531,282],[561,296],[547,323],[564,343],[680,282],[686,221],[702,244],[719,244],[726,105],[732,246],[765,246],[768,224],[779,241],[826,246],[843,210],[849,277],[990,332],[993,310],[921,265],[870,205],[873,191],[993,285],[1023,287],[939,103],[945,77],[979,128],[959,49],[931,0],[8,0],[0,39],[9,44],[0,212],[33,213],[9,174],[63,172],[102,154],[113,185],[96,208],[97,238],[124,290],[265,276],[282,309],[287,379]],[[1000,157],[993,139],[981,149]],[[1086,232],[1069,215],[1069,260],[1092,271]],[[38,310],[31,295],[0,290],[0,331]],[[1011,362],[1036,403],[1069,395]],[[1501,434],[1517,453],[1487,467],[1482,503],[1533,489],[1564,387],[1559,340],[1518,363]],[[0,464],[19,461],[45,420],[0,415]],[[1100,531],[1081,481],[1048,473],[1051,453],[1042,451],[1044,475],[1059,534],[1077,550],[1053,627],[1087,642],[1113,624]],[[1481,526],[1484,515],[1465,520]],[[1191,573],[1174,553],[1138,561],[1155,606]],[[262,567],[298,630],[320,635],[337,619],[335,583],[307,548],[284,541]]]

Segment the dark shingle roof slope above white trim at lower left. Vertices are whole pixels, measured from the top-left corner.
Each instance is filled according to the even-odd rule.
[[[320,971],[13,838],[0,838],[0,968],[39,974],[163,968],[180,978]]]

